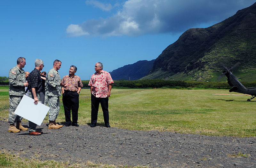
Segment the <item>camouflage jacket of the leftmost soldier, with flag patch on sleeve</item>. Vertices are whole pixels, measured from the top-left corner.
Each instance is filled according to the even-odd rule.
[[[17,65],[9,71],[9,95],[23,96],[26,83],[25,71]]]

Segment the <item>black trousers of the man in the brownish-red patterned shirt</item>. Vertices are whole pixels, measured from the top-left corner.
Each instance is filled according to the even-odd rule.
[[[79,94],[77,92],[64,92],[62,94],[62,102],[65,111],[65,119],[66,123],[71,123],[71,115],[72,111],[72,120],[73,123],[77,123],[78,119],[78,108],[79,108]]]

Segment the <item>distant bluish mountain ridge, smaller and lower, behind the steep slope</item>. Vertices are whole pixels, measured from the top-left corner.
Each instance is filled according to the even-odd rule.
[[[113,80],[138,80],[146,76],[155,60],[142,60],[109,72]]]

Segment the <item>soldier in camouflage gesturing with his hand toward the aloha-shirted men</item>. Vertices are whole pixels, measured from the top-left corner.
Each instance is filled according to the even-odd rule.
[[[56,119],[60,112],[60,97],[61,96],[61,86],[68,86],[68,84],[60,84],[61,78],[58,70],[61,67],[61,61],[55,60],[53,62],[53,68],[47,73],[46,77],[46,92],[48,96],[48,106],[49,110],[49,129],[58,129],[62,125],[56,123]]]

